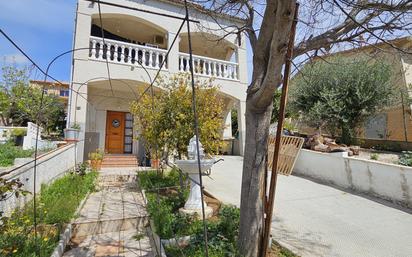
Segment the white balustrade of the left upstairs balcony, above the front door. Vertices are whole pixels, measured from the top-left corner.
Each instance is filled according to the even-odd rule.
[[[144,66],[158,69],[166,59],[167,50],[147,47],[143,45],[130,44],[121,41],[90,37],[90,58],[96,60],[108,60],[115,63]],[[113,50],[112,50],[113,48]],[[167,69],[167,60],[162,69]]]

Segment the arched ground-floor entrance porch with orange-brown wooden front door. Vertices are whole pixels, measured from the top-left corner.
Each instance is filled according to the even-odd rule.
[[[85,153],[104,149],[109,154],[144,156],[142,142],[136,140],[130,104],[137,100],[149,85],[142,81],[112,79],[87,84],[88,108],[86,118]],[[112,90],[113,89],[113,90]],[[161,89],[154,87],[155,93]],[[150,91],[147,92],[150,94]]]

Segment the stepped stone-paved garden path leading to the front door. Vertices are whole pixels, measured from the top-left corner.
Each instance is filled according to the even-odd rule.
[[[98,191],[90,194],[73,224],[71,249],[65,257],[154,256],[136,170],[102,169]]]

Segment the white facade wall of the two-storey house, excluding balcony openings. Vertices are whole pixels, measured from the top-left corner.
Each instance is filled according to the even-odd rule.
[[[185,12],[183,6],[179,6],[172,3],[167,3],[164,1],[127,1],[127,0],[112,0],[110,2],[127,5],[131,7],[136,7],[139,9],[144,9],[153,12],[159,12],[169,15],[175,15],[179,17],[184,17]],[[171,41],[178,32],[178,29],[182,23],[182,20],[173,19],[170,17],[159,16],[151,13],[137,12],[134,10],[108,6],[101,4],[101,13],[103,17],[109,17],[113,15],[128,15],[128,18],[133,18],[135,20],[144,22],[145,24],[156,28],[157,31],[163,31],[167,36],[167,46],[171,48],[168,57],[167,70],[162,70],[160,72],[161,76],[169,76],[170,74],[179,72],[179,43],[178,38],[176,43],[171,47]],[[78,0],[77,18],[76,18],[76,35],[74,37],[74,48],[88,48],[90,44],[90,32],[92,20],[97,18],[99,15],[97,3],[92,3],[90,1]],[[194,20],[199,20],[201,25],[191,24],[191,32],[197,33],[209,33],[213,37],[222,37],[225,32],[220,29],[220,26],[207,15],[202,14],[198,11],[190,9],[191,18]],[[124,17],[124,16],[119,16]],[[218,22],[221,26],[240,24],[239,20],[228,19],[228,18],[218,18]],[[103,23],[104,27],[104,23]],[[139,33],[136,31],[135,33]],[[181,35],[187,34],[187,27],[183,26],[181,30]],[[221,92],[232,98],[237,102],[238,113],[239,113],[239,130],[244,133],[245,122],[245,101],[246,101],[246,89],[248,86],[248,74],[247,74],[247,61],[246,61],[246,37],[242,35],[241,45],[238,46],[238,38],[236,35],[229,35],[225,38],[228,44],[236,47],[234,51],[236,52],[236,59],[238,62],[238,80],[218,78],[215,79],[215,84],[219,85]],[[199,45],[194,45],[196,47],[202,47],[200,43],[201,40],[195,40],[194,43],[199,42]],[[74,91],[80,92],[86,99],[77,97],[77,101],[73,101],[76,93],[71,93],[71,106],[69,107],[69,118],[68,126],[70,124],[77,122],[82,127],[82,133],[80,139],[84,139],[85,132],[93,132],[101,130],[103,124],[105,127],[105,120],[102,117],[102,111],[89,111],[90,109],[95,109],[93,104],[90,102],[88,97],[88,84],[91,81],[103,81],[108,79],[108,70],[106,60],[91,60],[89,59],[88,50],[78,50],[73,53],[73,75],[71,79],[71,87]],[[151,80],[156,76],[157,69],[146,68],[142,69],[138,65],[129,64],[109,64],[111,79],[121,79],[130,81],[139,81],[143,83],[150,83]],[[114,88],[117,90],[117,88]],[[73,91],[72,91],[73,92]],[[130,93],[130,92],[129,92]],[[109,98],[108,98],[109,99]],[[89,101],[89,103],[88,103]],[[103,110],[107,110],[103,109]],[[93,119],[94,118],[94,119]],[[99,131],[100,133],[101,131]],[[99,144],[103,146],[104,135],[103,133],[99,136]],[[83,144],[80,141],[79,144]],[[241,140],[239,140],[242,145],[241,153],[243,152],[244,136],[241,135]],[[83,148],[83,147],[80,147]],[[79,152],[79,158],[83,158],[83,153]]]

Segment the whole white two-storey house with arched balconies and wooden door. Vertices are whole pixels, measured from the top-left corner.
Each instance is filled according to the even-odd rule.
[[[102,2],[101,25],[98,4],[78,0],[74,48],[80,50],[73,53],[68,126],[74,123],[81,126],[80,160],[96,148],[108,153],[142,155],[142,143],[133,140],[136,131],[129,105],[150,85],[168,50],[170,54],[160,72],[162,76],[188,71],[189,60],[186,25],[171,47],[182,20],[150,12],[184,18],[183,3],[179,0]],[[239,140],[236,148],[242,155],[248,85],[246,37],[226,35],[221,26],[240,27],[243,20],[227,15],[211,19],[207,10],[194,4],[190,4],[189,10],[191,19],[200,22],[191,23],[196,76],[200,79],[214,77],[214,83],[220,86],[226,106],[224,138],[232,137],[230,115],[232,109],[237,109]]]

